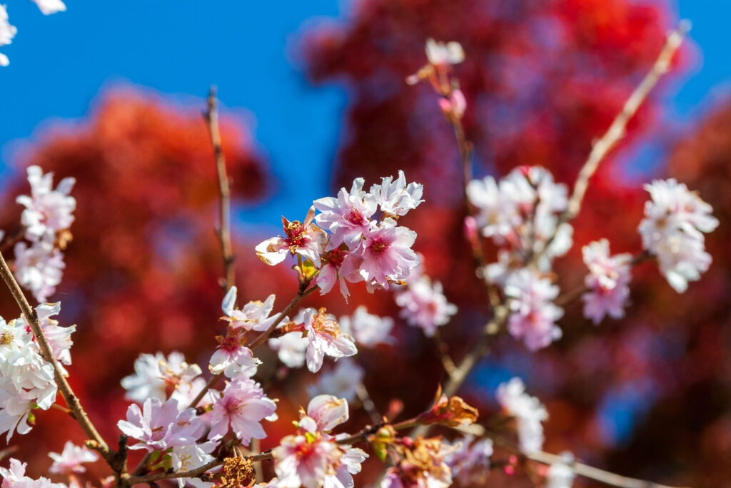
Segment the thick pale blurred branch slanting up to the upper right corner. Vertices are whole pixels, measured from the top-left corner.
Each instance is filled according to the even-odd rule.
[[[630,95],[626,102],[624,102],[624,107],[622,107],[620,113],[617,114],[616,118],[602,138],[596,140],[594,145],[592,145],[591,153],[589,153],[588,159],[584,163],[576,179],[574,191],[569,198],[567,209],[564,210],[564,213],[561,213],[561,216],[558,218],[558,224],[556,224],[557,230],[558,226],[572,220],[579,214],[581,210],[581,203],[583,202],[586,189],[588,188],[589,179],[591,179],[591,176],[594,175],[594,172],[596,172],[596,169],[599,167],[599,163],[605,159],[607,153],[609,153],[610,150],[616,146],[617,142],[624,137],[627,123],[629,123],[629,121],[632,120],[632,117],[635,116],[640,105],[645,102],[645,99],[647,99],[648,95],[662,75],[667,73],[670,61],[673,59],[675,52],[678,50],[678,47],[680,47],[681,42],[683,42],[683,37],[685,37],[689,30],[690,22],[688,20],[682,20],[674,31],[667,34],[665,45],[662,47],[659,56],[652,65],[648,74],[645,75],[640,84],[637,85],[637,88],[635,88],[635,91],[632,92],[632,95]],[[556,233],[554,233],[546,241],[541,251],[533,256],[530,264],[535,264],[538,259],[545,254],[546,251],[548,251],[548,248],[555,238]]]

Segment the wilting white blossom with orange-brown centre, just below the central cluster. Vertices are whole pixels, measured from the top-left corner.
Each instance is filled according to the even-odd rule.
[[[338,358],[353,356],[358,351],[355,340],[341,332],[335,317],[327,314],[325,308],[306,309],[303,326],[309,340],[306,351],[307,369],[312,373],[320,370],[325,355]]]

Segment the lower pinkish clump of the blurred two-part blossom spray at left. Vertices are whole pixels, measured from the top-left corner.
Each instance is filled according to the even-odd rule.
[[[61,283],[64,255],[45,241],[15,244],[15,278],[23,288],[29,289],[36,300],[45,302],[56,292]]]

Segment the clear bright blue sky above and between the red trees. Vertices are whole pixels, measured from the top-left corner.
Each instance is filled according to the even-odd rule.
[[[84,115],[109,85],[133,83],[200,107],[200,97],[215,83],[224,104],[252,126],[276,175],[291,175],[293,168],[319,175],[308,193],[295,191],[294,179],[284,178],[280,196],[246,210],[244,218],[298,218],[313,198],[327,194],[346,96],[333,86],[309,86],[291,53],[312,18],[343,15],[343,4],[68,0],[67,12],[44,16],[28,0],[7,0],[18,35],[0,48],[10,57],[10,66],[0,69],[0,159],[10,161],[18,141],[32,138],[46,121]],[[677,0],[671,7],[678,18],[692,20],[700,50],[697,66],[666,99],[668,120],[682,123],[705,110],[731,80],[731,2]],[[636,157],[646,167],[658,154],[649,143]]]

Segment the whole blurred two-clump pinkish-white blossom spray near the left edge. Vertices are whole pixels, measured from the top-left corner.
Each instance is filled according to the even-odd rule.
[[[76,200],[69,194],[74,178],[64,178],[53,189],[53,173],[43,174],[37,166],[28,168],[31,195],[16,201],[25,207],[20,215],[23,236],[29,240],[15,244],[15,278],[31,291],[38,302],[45,302],[61,283],[64,255],[70,239]]]

